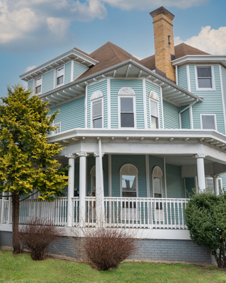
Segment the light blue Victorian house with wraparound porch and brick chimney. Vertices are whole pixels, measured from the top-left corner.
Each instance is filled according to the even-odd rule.
[[[64,146],[57,158],[71,166],[66,197],[21,202],[20,223],[32,212],[59,226],[137,229],[136,258],[210,263],[189,237],[183,207],[194,187],[226,187],[226,60],[174,47],[172,13],[150,15],[153,56],[140,61],[107,42],[20,76],[49,100],[50,114],[59,109],[49,142]],[[1,222],[10,223],[4,205]]]

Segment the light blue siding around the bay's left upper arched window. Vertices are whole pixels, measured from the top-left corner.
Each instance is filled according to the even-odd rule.
[[[90,128],[90,107],[91,101],[90,97],[94,91],[102,91],[104,96],[104,127],[107,128],[107,80],[102,81],[100,83],[95,83],[93,86],[88,86],[88,96],[87,96],[87,127]]]

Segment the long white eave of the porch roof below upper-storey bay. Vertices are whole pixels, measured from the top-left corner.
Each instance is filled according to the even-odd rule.
[[[202,143],[226,151],[226,136],[211,129],[71,129],[48,137],[51,143],[72,144],[78,141],[142,141],[153,143]]]

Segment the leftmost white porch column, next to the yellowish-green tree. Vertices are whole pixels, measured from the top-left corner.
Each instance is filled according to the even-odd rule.
[[[69,186],[68,186],[68,225],[73,226],[74,222],[74,212],[73,212],[73,191],[74,191],[74,181],[75,181],[75,159],[76,156],[74,154],[67,154],[67,158],[69,158]]]

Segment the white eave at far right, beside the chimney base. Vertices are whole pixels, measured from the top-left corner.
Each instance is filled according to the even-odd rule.
[[[185,64],[220,64],[226,68],[225,55],[186,55],[172,61],[173,66],[181,67]]]

